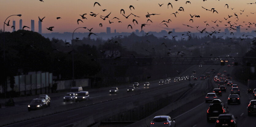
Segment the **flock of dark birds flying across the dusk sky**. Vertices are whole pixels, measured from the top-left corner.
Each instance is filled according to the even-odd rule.
[[[39,0],[39,1],[40,1],[40,2],[44,2],[43,0]],[[174,0],[174,1],[175,1],[175,2],[178,2],[179,0]],[[204,2],[204,1],[206,1],[206,0],[203,0],[203,2]],[[218,0],[218,1],[220,1],[220,0]],[[184,2],[184,5],[191,5],[191,4],[193,4],[193,2],[190,2],[190,1]],[[250,5],[255,5],[256,2],[255,2],[255,3],[246,3],[246,4],[248,4],[248,5],[249,5],[249,4],[250,4]],[[168,2],[168,3],[161,3],[161,4],[158,3],[158,5],[156,5],[156,6],[159,6],[159,7],[166,7],[167,9],[172,8],[172,10],[173,10],[173,8],[174,8],[173,5],[175,5],[175,4],[174,4],[174,3],[171,3],[171,2]],[[101,6],[101,4],[100,4],[99,2],[94,2],[93,7],[95,7],[95,6]],[[128,7],[129,7],[130,11],[136,9],[133,5],[129,5]],[[231,9],[231,10],[234,9],[234,8],[230,8],[228,4],[223,5],[223,7],[224,7],[224,8],[227,8],[227,9]],[[215,8],[209,9],[209,8],[205,8],[205,7],[202,6],[201,9],[202,9],[202,10],[205,10],[205,11],[207,11],[207,12],[211,12],[211,13],[208,14],[209,17],[210,17],[211,14],[219,14],[218,10],[216,10]],[[179,9],[178,9],[176,12],[171,13],[170,16],[174,15],[174,17],[177,17],[178,15],[180,15],[179,13],[185,12],[185,10],[186,10],[186,9],[185,9],[184,7],[179,7]],[[107,11],[107,9],[101,9],[100,11],[105,12],[105,11]],[[243,22],[243,23],[245,23],[244,25],[240,25],[240,24],[238,23],[238,22],[239,22],[239,14],[242,15],[244,12],[246,12],[246,10],[245,10],[245,9],[241,9],[239,13],[238,13],[238,12],[233,12],[234,14],[232,14],[232,15],[227,15],[227,18],[224,17],[224,20],[220,20],[220,19],[213,20],[212,22],[215,23],[216,26],[212,26],[212,27],[211,27],[211,30],[207,30],[207,31],[206,31],[206,29],[207,29],[206,27],[207,27],[207,26],[210,26],[210,25],[208,24],[208,22],[210,22],[210,21],[204,21],[204,23],[206,23],[206,24],[205,24],[206,27],[205,27],[205,28],[203,27],[203,29],[198,29],[199,26],[193,26],[193,25],[187,25],[187,24],[182,24],[182,25],[187,26],[187,27],[189,27],[189,28],[194,28],[194,27],[196,27],[196,28],[195,28],[196,30],[198,30],[201,34],[206,34],[207,36],[212,36],[213,34],[218,34],[218,33],[221,32],[220,29],[217,30],[217,28],[220,27],[220,25],[217,24],[218,22],[219,22],[219,23],[226,23],[226,24],[224,24],[224,27],[225,27],[225,28],[228,28],[229,30],[237,30],[237,29],[239,29],[239,27],[237,27],[237,26],[240,26],[240,27],[248,27],[248,28],[253,27],[253,26],[256,27],[256,23],[248,22],[248,23],[246,24],[245,22]],[[255,13],[255,12],[250,12],[250,14],[254,14],[254,13]],[[141,31],[143,30],[143,27],[149,27],[149,26],[151,25],[150,23],[153,23],[153,21],[152,21],[151,19],[149,19],[149,18],[151,18],[152,16],[157,16],[157,15],[160,15],[160,14],[147,12],[147,14],[145,15],[145,17],[147,18],[147,22],[141,23],[141,25],[140,25]],[[77,23],[78,25],[79,25],[79,23],[84,23],[83,20],[88,19],[88,16],[99,17],[100,19],[99,19],[98,21],[100,21],[100,20],[102,19],[102,22],[103,22],[104,20],[108,20],[108,23],[109,23],[109,24],[116,23],[116,22],[113,21],[114,19],[118,20],[118,23],[122,23],[122,21],[120,20],[120,18],[118,18],[118,17],[111,17],[111,16],[112,16],[112,15],[111,15],[111,12],[109,12],[107,15],[104,15],[104,16],[103,16],[103,15],[100,15],[100,13],[94,13],[94,12],[90,12],[88,15],[87,15],[87,13],[79,14],[79,16],[80,16],[80,18],[76,20],[76,23]],[[141,17],[141,16],[137,16],[136,14],[134,14],[134,13],[132,13],[132,12],[131,12],[131,13],[128,13],[128,14],[127,14],[127,12],[126,12],[126,14],[125,14],[125,10],[124,10],[124,9],[120,9],[120,16],[124,16],[125,19],[128,19],[128,20],[131,19],[131,16],[132,16],[133,18],[140,18],[140,17]],[[248,15],[246,15],[246,16],[248,16]],[[39,18],[40,22],[43,22],[43,20],[44,20],[45,17],[43,17],[42,19],[41,19],[40,17],[38,17],[38,18]],[[192,15],[192,14],[190,14],[190,15],[189,15],[189,22],[194,23],[194,21],[195,21],[197,18],[200,18],[200,15],[197,15],[197,14],[193,14],[193,15]],[[234,22],[234,21],[233,21],[233,22],[232,22],[232,21],[229,21],[229,19],[231,20],[231,18],[233,18],[233,19],[235,20],[235,22]],[[61,20],[62,18],[61,18],[61,17],[56,17],[56,19],[57,19],[57,20]],[[224,21],[224,22],[223,22],[223,21]],[[10,20],[8,21],[8,23],[6,23],[7,26],[10,26],[9,22],[10,22]],[[171,22],[172,22],[171,19],[163,20],[159,25],[169,27],[168,25],[169,25],[169,23],[171,23]],[[103,24],[104,24],[104,23],[99,23],[99,27],[102,27]],[[133,25],[132,25],[132,24],[133,24]],[[133,29],[133,26],[136,26],[136,25],[138,25],[138,24],[139,24],[139,23],[138,23],[137,19],[132,19],[131,22],[130,22],[130,24],[127,25],[127,29]],[[14,27],[14,26],[12,26],[12,27]],[[201,27],[202,27],[202,26],[201,26]],[[29,27],[28,27],[28,26],[23,26],[23,29],[25,29],[25,28],[29,28]],[[46,28],[46,29],[47,29],[47,30],[50,30],[50,31],[53,31],[53,28],[54,28],[54,26],[51,26],[51,27],[48,27],[48,28]],[[87,30],[90,32],[89,35],[88,35],[89,38],[90,38],[91,35],[97,36],[96,34],[92,33],[93,28],[90,28],[90,29],[87,29]],[[213,30],[214,30],[214,31],[213,31]],[[246,29],[246,30],[248,30],[248,29]],[[256,31],[255,31],[255,32],[256,32]],[[192,36],[191,36],[189,33],[191,33],[191,32],[190,32],[190,31],[187,31],[187,34],[182,34],[182,35],[181,35],[181,36],[182,36],[182,39],[186,39],[185,37],[187,36],[187,37],[188,37],[187,39],[190,40],[190,39],[192,38]],[[146,34],[149,34],[149,33],[146,33]],[[169,31],[168,34],[173,34],[173,32],[172,32],[172,31]],[[232,34],[234,35],[233,32],[230,33],[230,35],[232,35]],[[171,35],[171,36],[172,36],[173,39],[175,39],[175,37],[178,37],[178,36],[173,36],[173,35]],[[252,35],[243,35],[242,37],[244,37],[244,36],[245,36],[245,37],[250,37],[250,36],[252,36]],[[163,36],[163,37],[166,38],[166,37],[168,37],[168,36]],[[242,37],[240,37],[240,38],[241,38],[241,41],[243,41],[244,39],[246,39],[246,38],[242,38]],[[254,36],[252,36],[252,37],[254,37]],[[256,37],[254,37],[254,38],[256,38]],[[222,39],[222,38],[217,38],[217,39]],[[230,37],[230,39],[232,39],[232,37]],[[113,39],[112,39],[112,40],[113,40]],[[110,42],[110,41],[109,41],[109,42]],[[150,41],[148,41],[148,42],[150,43]],[[118,42],[116,42],[116,41],[115,41],[115,43],[118,44]],[[166,46],[165,43],[162,43],[161,45],[164,45],[164,46],[167,48],[167,46]],[[148,51],[147,49],[144,49],[144,48],[143,48],[143,50],[145,50],[145,51],[147,51],[147,52],[150,52],[150,51]],[[168,55],[171,55],[171,53],[168,52]],[[180,51],[179,51],[179,52],[177,53],[177,56],[183,56],[183,55],[185,55],[183,52],[180,52]]]

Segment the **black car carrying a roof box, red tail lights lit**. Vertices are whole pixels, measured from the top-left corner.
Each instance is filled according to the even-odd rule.
[[[228,107],[220,99],[214,99],[207,110],[207,122],[216,121],[220,114],[228,112]]]

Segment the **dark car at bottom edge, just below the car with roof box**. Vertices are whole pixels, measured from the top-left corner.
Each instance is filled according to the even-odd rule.
[[[215,127],[237,127],[236,118],[232,114],[220,114],[215,122]]]

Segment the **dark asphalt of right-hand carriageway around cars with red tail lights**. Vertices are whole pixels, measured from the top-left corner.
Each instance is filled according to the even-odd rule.
[[[235,68],[235,66],[227,67],[224,66],[220,69],[219,72],[223,73],[224,70],[227,71],[227,73],[231,74],[232,69]],[[212,83],[213,77],[211,77]],[[227,92],[223,92],[222,96],[219,97],[220,100],[228,106],[229,113],[233,114],[235,117],[238,117],[238,127],[250,127],[255,126],[255,116],[248,117],[247,115],[247,106],[250,102],[250,100],[253,100],[252,93],[247,93],[247,84],[243,85],[239,82],[237,82],[234,77],[231,79],[234,84],[237,84],[240,89],[240,98],[241,98],[241,104],[230,104],[227,105],[227,98],[231,92],[231,86],[227,86]],[[218,85],[215,85],[215,88],[217,88]],[[196,105],[195,105],[196,104]],[[185,105],[185,109],[187,111],[175,113],[172,117],[176,119],[176,125],[177,127],[214,127],[215,122],[208,123],[206,120],[206,114],[209,107],[209,103],[205,103],[204,97],[201,97],[198,99],[197,102],[194,102],[193,107],[190,107],[191,105]]]

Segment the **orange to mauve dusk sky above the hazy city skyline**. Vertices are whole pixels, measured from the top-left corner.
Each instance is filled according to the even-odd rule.
[[[255,0],[190,0],[191,4],[186,3],[187,0],[43,0],[44,2],[40,2],[39,0],[1,0],[0,1],[0,8],[1,8],[1,18],[0,22],[3,23],[4,20],[10,16],[15,14],[22,14],[21,17],[12,16],[10,17],[10,26],[6,26],[6,31],[12,31],[12,21],[16,21],[16,30],[19,29],[19,20],[23,20],[23,25],[31,26],[30,20],[35,20],[35,31],[38,32],[38,16],[40,18],[46,17],[42,22],[42,32],[43,33],[51,33],[51,31],[47,30],[46,27],[54,26],[52,32],[73,32],[77,27],[87,27],[93,28],[92,32],[99,33],[105,32],[106,27],[111,27],[111,32],[114,29],[117,32],[132,32],[136,29],[141,30],[141,24],[146,23],[147,19],[151,19],[153,23],[148,22],[150,26],[143,27],[145,32],[147,31],[156,31],[159,32],[161,30],[172,30],[175,29],[176,32],[183,32],[183,31],[193,31],[196,32],[196,26],[199,26],[198,29],[202,30],[207,28],[206,31],[214,31],[212,26],[215,27],[215,30],[221,29],[224,31],[224,24],[227,24],[227,21],[231,21],[231,24],[238,23],[238,25],[242,25],[241,31],[248,31],[255,30],[255,26],[248,28],[245,24],[248,22],[256,23],[256,13],[251,14],[250,12],[256,12],[256,4],[246,4],[246,3],[255,3]],[[95,5],[94,2],[98,2],[101,4]],[[167,4],[171,3],[173,5],[173,9],[169,5],[169,9],[167,9]],[[161,7],[158,5],[163,4]],[[227,9],[227,6],[229,8]],[[133,5],[135,10],[130,10],[129,6]],[[212,13],[210,11],[206,11],[201,6],[206,9],[215,8],[217,13]],[[184,8],[184,11],[178,11],[180,7]],[[231,8],[234,8],[233,10]],[[102,9],[106,9],[105,12]],[[126,19],[124,16],[120,14],[120,9],[125,10],[125,16],[128,16],[131,12],[138,17],[130,16]],[[245,9],[245,10],[244,10]],[[242,11],[244,12],[242,13]],[[90,16],[90,12],[94,12],[96,14],[99,13],[96,17]],[[111,12],[110,16],[106,20],[102,20],[100,15],[106,16]],[[160,14],[151,16],[150,18],[146,18],[147,12]],[[178,12],[177,18],[174,15],[170,15],[171,13]],[[234,12],[238,15],[239,21],[236,22]],[[87,19],[82,19],[81,16],[84,13],[87,13],[85,17]],[[242,14],[240,14],[242,13]],[[191,15],[199,15],[200,18],[189,16]],[[232,15],[231,18],[225,20],[228,15]],[[246,16],[247,15],[247,16]],[[62,19],[56,19],[56,17],[61,17]],[[113,17],[117,17],[118,19],[113,19]],[[8,20],[9,20],[8,19]],[[84,23],[79,22],[77,24],[77,19],[82,19]],[[136,19],[138,21],[137,24],[133,24],[132,20]],[[172,22],[166,23],[169,27],[165,25],[160,25],[163,20],[171,19]],[[189,21],[189,19],[193,19],[194,22]],[[8,22],[8,20],[6,22]],[[109,20],[111,23],[109,24]],[[212,21],[220,20],[223,22],[220,23],[217,21],[213,23]],[[122,23],[118,23],[121,21]],[[206,27],[206,23],[203,21],[207,21],[210,26]],[[243,23],[245,22],[245,23]],[[103,27],[99,26],[99,23],[103,24]],[[127,29],[127,26],[131,24],[133,29]],[[183,26],[182,24],[187,24],[193,26],[194,28],[190,28],[187,26]],[[219,25],[217,27],[216,25]],[[228,25],[230,26],[230,25]],[[0,26],[0,29],[3,29],[3,24]],[[248,30],[246,30],[248,29]],[[30,30],[30,29],[26,29]],[[77,32],[89,32],[88,30],[80,29]]]

